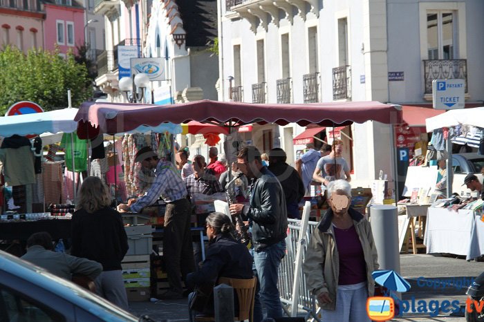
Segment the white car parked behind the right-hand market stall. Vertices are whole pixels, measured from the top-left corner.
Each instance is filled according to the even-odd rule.
[[[484,155],[477,153],[458,153],[452,155],[452,170],[454,177],[452,191],[458,192],[460,196],[467,196],[471,193],[470,189],[463,186],[464,178],[467,173],[474,173],[483,182]]]

